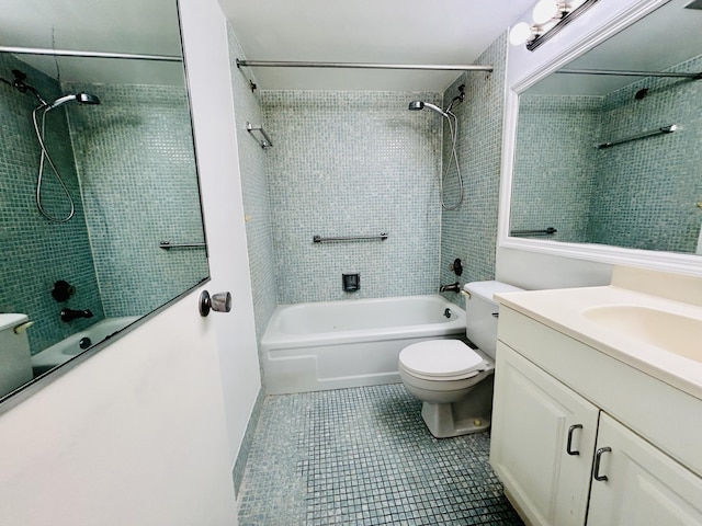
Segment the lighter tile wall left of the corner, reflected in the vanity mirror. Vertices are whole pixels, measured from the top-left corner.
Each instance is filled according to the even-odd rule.
[[[598,172],[601,96],[523,94],[512,179],[512,230],[557,230],[548,239],[588,240]],[[537,137],[537,142],[533,138]]]

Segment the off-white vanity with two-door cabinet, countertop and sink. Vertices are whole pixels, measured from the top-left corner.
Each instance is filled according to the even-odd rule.
[[[496,296],[490,464],[528,524],[702,524],[702,278]]]

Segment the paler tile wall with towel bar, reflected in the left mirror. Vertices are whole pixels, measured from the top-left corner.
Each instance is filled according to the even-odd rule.
[[[69,122],[105,315],[141,316],[208,275],[183,87],[67,84],[100,106]]]

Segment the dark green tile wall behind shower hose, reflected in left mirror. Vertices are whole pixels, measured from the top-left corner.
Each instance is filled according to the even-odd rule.
[[[53,100],[63,92],[46,75],[0,54],[0,77],[11,81],[13,69],[24,71],[27,83],[44,99]],[[34,321],[27,331],[33,354],[103,318],[64,110],[48,114],[46,142],[73,196],[76,215],[68,222],[53,224],[39,215],[34,203],[39,160],[32,125],[36,106],[31,93],[20,93],[0,82],[0,312],[24,312]],[[58,217],[70,209],[49,170],[45,170],[42,203]],[[65,304],[56,302],[50,295],[58,279],[76,287],[76,294]],[[66,323],[59,319],[64,307],[90,309],[94,317]]]

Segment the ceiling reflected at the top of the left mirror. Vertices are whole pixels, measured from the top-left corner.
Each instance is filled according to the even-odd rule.
[[[181,55],[176,0],[2,0],[0,45]],[[179,62],[18,57],[61,81],[183,83]]]

